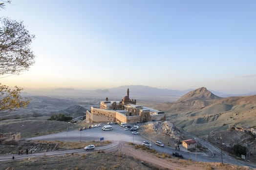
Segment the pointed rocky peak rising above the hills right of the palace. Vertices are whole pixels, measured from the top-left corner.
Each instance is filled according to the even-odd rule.
[[[197,88],[185,95],[183,95],[177,102],[196,101],[196,100],[214,100],[220,97],[214,95],[205,87]]]

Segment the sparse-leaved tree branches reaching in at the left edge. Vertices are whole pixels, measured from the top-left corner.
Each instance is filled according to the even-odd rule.
[[[0,3],[0,8],[4,7],[4,2]],[[0,17],[0,76],[19,74],[34,64],[35,55],[30,49],[34,37],[22,22]],[[29,100],[23,100],[22,90],[17,86],[11,89],[0,84],[0,113],[27,106]]]

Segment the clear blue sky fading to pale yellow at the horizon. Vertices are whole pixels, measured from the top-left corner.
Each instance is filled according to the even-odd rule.
[[[36,36],[36,58],[0,83],[253,92],[255,9],[255,0],[12,0],[0,16]]]

